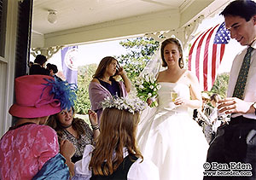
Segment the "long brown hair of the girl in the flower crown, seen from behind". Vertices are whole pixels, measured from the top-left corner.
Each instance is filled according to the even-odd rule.
[[[124,160],[123,148],[127,148],[129,154],[143,159],[136,142],[138,121],[138,112],[133,114],[116,108],[103,110],[101,134],[96,141],[89,165],[95,175],[113,174]]]

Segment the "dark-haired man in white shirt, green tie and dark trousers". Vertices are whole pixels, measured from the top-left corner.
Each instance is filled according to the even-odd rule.
[[[229,176],[219,174],[204,179],[256,178],[256,3],[252,0],[231,2],[221,13],[231,38],[242,46],[230,71],[227,98],[218,101],[219,113],[230,113],[230,124],[218,127],[217,136],[208,149],[206,171],[217,171],[214,162],[228,165]],[[244,170],[232,169],[232,165],[247,165]],[[217,164],[215,164],[216,167]],[[250,170],[249,167],[252,167]],[[218,170],[220,171],[220,170]],[[232,174],[236,171],[236,175]],[[241,171],[247,171],[243,176]],[[216,177],[215,177],[216,176]]]

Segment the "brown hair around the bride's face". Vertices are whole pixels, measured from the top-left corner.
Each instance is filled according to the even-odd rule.
[[[177,38],[167,38],[162,44],[161,44],[161,58],[162,58],[162,67],[167,67],[167,63],[165,60],[165,52],[164,49],[166,48],[166,45],[168,44],[176,44],[178,52],[180,54],[180,58],[178,59],[178,66],[182,69],[184,67],[184,62],[183,62],[183,48]]]

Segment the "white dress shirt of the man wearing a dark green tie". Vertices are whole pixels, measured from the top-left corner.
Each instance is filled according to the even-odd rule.
[[[251,64],[250,69],[247,75],[247,84],[244,90],[244,101],[245,102],[256,102],[256,41],[252,44],[253,51],[251,54]],[[248,48],[248,47],[247,47]],[[228,88],[228,97],[233,96],[234,88],[236,85],[236,80],[238,78],[238,74],[240,72],[241,63],[243,61],[244,56],[247,53],[247,48],[243,49],[238,55],[236,55],[231,71],[230,71],[230,83]],[[255,113],[235,113],[232,114],[232,118],[236,118],[237,116],[243,116],[249,119],[256,119]]]

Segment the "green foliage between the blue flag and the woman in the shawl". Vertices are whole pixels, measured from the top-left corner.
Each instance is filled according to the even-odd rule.
[[[96,67],[97,64],[90,64],[84,67],[79,67],[79,90],[77,90],[78,100],[75,103],[76,113],[86,114],[88,109],[90,109],[89,84],[92,79],[92,75],[96,72]]]

